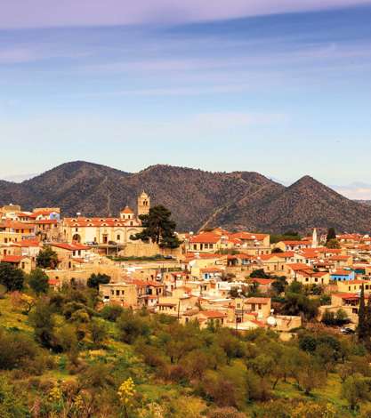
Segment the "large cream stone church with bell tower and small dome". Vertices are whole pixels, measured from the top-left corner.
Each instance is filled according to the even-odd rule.
[[[148,214],[150,198],[144,191],[138,197],[137,214],[129,206],[117,218],[64,218],[61,222],[61,238],[67,243],[85,245],[125,245],[130,237],[141,232],[141,214]]]

